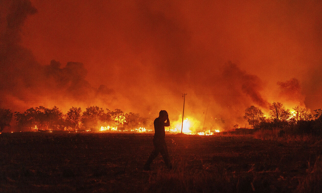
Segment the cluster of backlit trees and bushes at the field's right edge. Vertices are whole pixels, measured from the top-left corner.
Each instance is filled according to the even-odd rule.
[[[254,129],[278,129],[280,133],[290,134],[311,133],[321,135],[322,116],[321,109],[314,110],[313,115],[307,108],[299,105],[293,111],[287,109],[279,102],[269,105],[269,115],[266,115],[256,106],[245,109],[243,118]]]

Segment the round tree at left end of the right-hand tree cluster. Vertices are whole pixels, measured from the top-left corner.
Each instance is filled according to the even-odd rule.
[[[260,122],[264,121],[264,113],[255,106],[250,106],[246,108],[245,115],[243,117],[253,128],[257,128]]]

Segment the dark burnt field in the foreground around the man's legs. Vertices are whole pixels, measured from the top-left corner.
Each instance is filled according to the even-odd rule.
[[[153,134],[2,133],[0,192],[320,192],[321,141],[166,135],[143,171]]]

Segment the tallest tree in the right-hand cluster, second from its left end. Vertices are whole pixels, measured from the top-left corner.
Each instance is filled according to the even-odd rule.
[[[269,114],[270,117],[275,121],[276,120],[276,127],[278,127],[279,122],[285,122],[289,119],[291,113],[289,109],[285,109],[283,104],[277,102],[272,103],[272,105],[269,106]]]

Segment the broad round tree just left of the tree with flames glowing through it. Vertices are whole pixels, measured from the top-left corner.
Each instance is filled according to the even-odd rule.
[[[97,129],[99,122],[104,121],[105,118],[106,115],[102,108],[99,108],[98,106],[90,106],[86,108],[85,112],[83,112],[81,122],[85,127]]]

